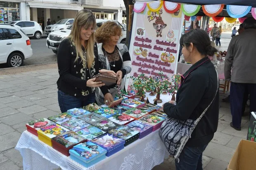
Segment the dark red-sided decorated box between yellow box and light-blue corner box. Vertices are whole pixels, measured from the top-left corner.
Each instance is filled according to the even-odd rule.
[[[86,142],[86,139],[76,134],[76,132],[68,131],[52,138],[52,148],[66,156],[69,156],[69,150],[73,146],[82,142]]]

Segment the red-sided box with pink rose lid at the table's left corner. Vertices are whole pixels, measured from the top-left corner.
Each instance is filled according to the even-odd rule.
[[[31,120],[26,124],[28,132],[32,133],[33,135],[38,136],[37,131],[40,130],[41,126],[45,126],[47,124],[53,124],[54,122],[43,118],[39,120]]]

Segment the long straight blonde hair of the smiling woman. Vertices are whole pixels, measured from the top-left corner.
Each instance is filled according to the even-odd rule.
[[[68,38],[71,43],[76,47],[76,60],[81,57],[81,61],[85,65],[87,63],[88,68],[92,66],[94,61],[94,44],[95,44],[95,33],[93,32],[89,40],[85,41],[85,52],[86,56],[83,55],[83,49],[80,42],[80,32],[81,29],[89,28],[92,26],[96,28],[96,19],[95,16],[87,9],[82,9],[76,13],[76,17],[73,22],[72,30]]]

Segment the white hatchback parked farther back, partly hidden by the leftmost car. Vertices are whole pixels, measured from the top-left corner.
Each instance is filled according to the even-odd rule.
[[[12,21],[9,24],[20,26],[28,37],[40,39],[43,34],[42,27],[36,21]]]

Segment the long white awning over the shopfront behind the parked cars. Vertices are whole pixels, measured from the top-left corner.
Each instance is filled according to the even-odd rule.
[[[50,9],[70,9],[70,10],[81,10],[83,7],[81,5],[75,4],[58,4],[58,3],[45,3],[45,2],[28,2],[31,8],[50,8]]]

